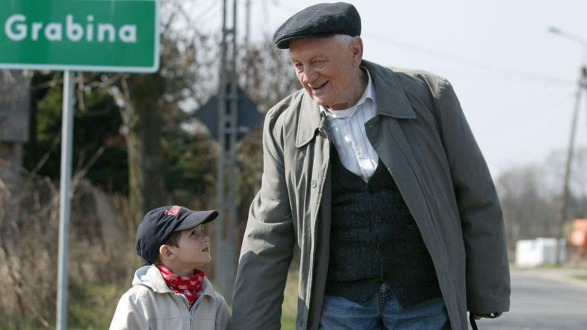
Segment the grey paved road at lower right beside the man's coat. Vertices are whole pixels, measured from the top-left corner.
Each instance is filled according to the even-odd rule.
[[[587,330],[587,270],[512,271],[510,312],[477,321],[480,330]]]

